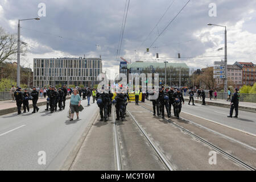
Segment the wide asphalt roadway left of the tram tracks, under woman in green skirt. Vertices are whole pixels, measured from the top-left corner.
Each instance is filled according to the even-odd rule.
[[[80,119],[69,122],[63,111],[50,114],[46,106],[40,106],[38,113],[16,113],[0,117],[0,170],[59,170],[69,152],[76,146],[90,119],[98,112],[96,104],[87,107]],[[69,106],[69,100],[66,101]],[[74,119],[76,119],[76,114]],[[42,153],[46,154],[46,164],[39,164]],[[39,155],[40,154],[40,155]]]

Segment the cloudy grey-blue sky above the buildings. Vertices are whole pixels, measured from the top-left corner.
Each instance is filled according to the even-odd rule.
[[[0,0],[0,26],[6,32],[16,34],[18,19],[38,17],[38,5],[44,3],[46,16],[21,22],[21,40],[29,45],[26,56],[22,56],[22,64],[27,66],[34,57],[101,55],[104,70],[114,73],[118,72],[120,59],[116,53],[128,1]],[[235,61],[253,61],[255,64],[255,0],[191,0],[166,28],[187,2],[130,0],[119,57],[131,62],[168,60],[170,63],[186,63],[195,69],[213,65],[213,61],[224,59],[224,49],[217,51],[224,47],[224,28],[207,26],[207,23],[213,23],[228,28],[228,64]],[[210,3],[216,5],[216,16],[209,16]],[[164,28],[166,30],[161,34]],[[150,46],[150,52],[146,52]],[[159,60],[155,60],[156,52]],[[177,53],[181,53],[181,57],[195,58],[177,59]],[[222,57],[201,58],[204,56]]]

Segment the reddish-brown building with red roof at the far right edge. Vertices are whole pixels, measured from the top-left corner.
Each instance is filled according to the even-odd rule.
[[[242,85],[252,86],[256,82],[256,65],[253,63],[236,62],[237,65],[242,69]]]

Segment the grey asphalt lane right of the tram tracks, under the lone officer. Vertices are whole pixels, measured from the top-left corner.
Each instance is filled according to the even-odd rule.
[[[228,118],[229,109],[225,107],[217,107],[217,106],[209,106],[209,105],[201,105],[195,103],[195,106],[188,105],[188,102],[185,102],[182,105],[182,109],[184,113],[193,114],[197,117],[202,117],[205,119],[209,119],[210,121],[214,121],[217,123],[221,123],[222,125],[227,125],[233,127],[234,129],[246,131],[247,133],[252,133],[256,135],[256,114],[238,110],[238,118]],[[172,110],[173,114],[173,110]],[[235,111],[233,112],[233,116],[235,115]]]

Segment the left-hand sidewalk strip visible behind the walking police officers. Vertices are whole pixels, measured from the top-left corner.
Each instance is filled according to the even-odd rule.
[[[69,98],[70,98],[70,96],[67,96],[66,100],[68,100]],[[47,102],[46,98],[39,97],[37,106],[46,105],[46,102]],[[29,104],[30,108],[33,107],[31,100],[28,101],[28,104]],[[23,110],[23,105],[22,105],[21,110]],[[14,113],[16,111],[18,111],[16,101],[15,102],[13,102],[11,100],[0,101],[0,115]]]

